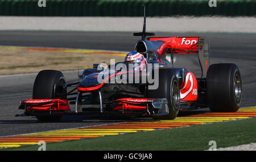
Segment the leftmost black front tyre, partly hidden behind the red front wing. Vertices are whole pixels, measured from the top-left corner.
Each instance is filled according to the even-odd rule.
[[[36,76],[33,87],[33,99],[67,99],[67,90],[64,89],[65,79],[57,70],[43,70]],[[36,116],[39,121],[59,121],[61,115]]]

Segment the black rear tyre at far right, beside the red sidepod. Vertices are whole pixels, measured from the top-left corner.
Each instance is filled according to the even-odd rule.
[[[212,112],[236,112],[241,105],[242,79],[234,63],[210,65],[207,72],[207,101]]]

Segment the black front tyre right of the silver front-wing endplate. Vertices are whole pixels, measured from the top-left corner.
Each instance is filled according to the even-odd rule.
[[[180,86],[173,69],[159,69],[159,85],[157,89],[148,89],[147,97],[168,100],[169,114],[164,116],[152,116],[154,119],[173,120],[180,110]]]

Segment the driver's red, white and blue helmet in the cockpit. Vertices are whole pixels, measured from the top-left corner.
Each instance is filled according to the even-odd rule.
[[[130,52],[125,57],[125,63],[127,68],[131,67],[129,66],[130,63],[133,64],[133,70],[139,70],[142,71],[146,69],[147,61],[144,58],[143,54],[138,52]]]

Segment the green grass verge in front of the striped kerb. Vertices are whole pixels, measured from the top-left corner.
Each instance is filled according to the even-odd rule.
[[[256,142],[256,118],[147,131],[107,137],[47,143],[46,150],[208,150],[209,141],[217,148]],[[2,150],[38,150],[37,145]]]

